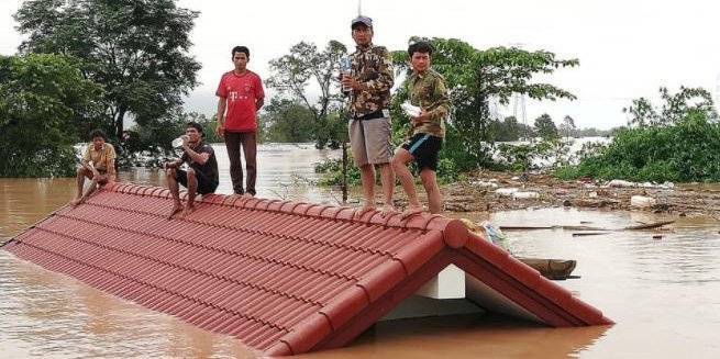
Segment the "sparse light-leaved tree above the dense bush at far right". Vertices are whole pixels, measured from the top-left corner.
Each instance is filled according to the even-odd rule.
[[[650,100],[640,98],[623,108],[622,112],[630,114],[629,125],[638,127],[672,125],[687,117],[689,113],[702,113],[709,121],[718,119],[712,94],[702,88],[686,88],[680,86],[677,93],[669,93],[666,87],[661,87],[660,98],[663,104],[653,106]]]

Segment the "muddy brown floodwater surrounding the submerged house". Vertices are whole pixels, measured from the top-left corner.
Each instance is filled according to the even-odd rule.
[[[224,150],[219,192],[230,192]],[[307,145],[263,146],[258,194],[336,203],[312,186],[312,164],[330,156]],[[122,180],[162,186],[154,169]],[[64,205],[73,179],[0,179],[0,242]],[[565,209],[452,214],[498,225],[621,228],[667,218],[649,213]],[[617,322],[546,328],[496,316],[380,322],[345,348],[302,358],[717,358],[720,345],[720,222],[679,217],[669,232],[610,232],[573,237],[562,229],[506,232],[524,257],[578,261],[579,279],[558,281]],[[653,238],[661,235],[661,239]],[[0,250],[0,349],[3,358],[246,358],[232,337],[199,329],[44,270]]]

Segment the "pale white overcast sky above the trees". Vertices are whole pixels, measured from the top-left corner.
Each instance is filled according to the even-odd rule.
[[[12,13],[22,1],[0,0],[0,54],[16,51],[21,36]],[[214,111],[214,89],[232,69],[234,45],[251,49],[248,67],[269,76],[267,63],[300,41],[353,45],[350,20],[357,0],[224,1],[180,0],[200,11],[191,54],[202,82],[187,101],[193,111]],[[375,21],[374,43],[403,49],[412,35],[455,37],[476,48],[519,45],[577,57],[580,66],[547,80],[575,93],[576,101],[529,102],[530,123],[543,112],[556,123],[565,115],[578,127],[622,125],[622,108],[638,97],[655,98],[660,86],[704,87],[720,81],[720,2],[639,0],[408,1],[364,0]],[[506,114],[512,114],[508,109]]]

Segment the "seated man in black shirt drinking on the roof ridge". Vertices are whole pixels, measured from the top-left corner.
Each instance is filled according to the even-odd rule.
[[[165,176],[167,186],[173,193],[175,204],[168,217],[182,210],[178,183],[188,189],[188,203],[185,206],[184,215],[195,211],[196,193],[213,193],[218,188],[218,160],[212,147],[202,142],[204,136],[202,126],[190,122],[182,136],[182,157],[177,160],[165,162]],[[180,169],[180,165],[188,164],[188,169]]]

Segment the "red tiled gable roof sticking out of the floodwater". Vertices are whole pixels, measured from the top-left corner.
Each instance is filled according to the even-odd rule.
[[[450,263],[547,325],[611,323],[456,220],[215,194],[167,220],[171,204],[107,186],[5,248],[267,355],[344,346]]]

